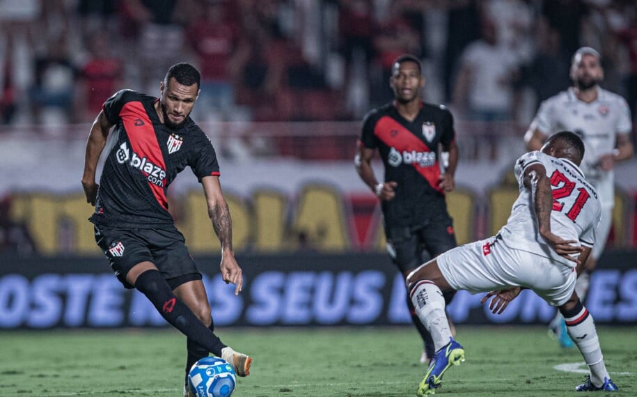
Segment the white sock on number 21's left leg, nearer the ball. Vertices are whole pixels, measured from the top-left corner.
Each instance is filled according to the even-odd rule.
[[[445,313],[445,298],[436,284],[420,280],[409,293],[416,314],[434,340],[436,351],[448,345],[451,338],[449,321]]]

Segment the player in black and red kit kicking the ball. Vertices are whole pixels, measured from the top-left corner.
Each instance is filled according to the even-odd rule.
[[[188,63],[173,65],[159,84],[159,98],[130,90],[104,102],[86,144],[82,186],[95,205],[95,241],[125,288],[146,295],[157,311],[187,336],[186,373],[209,352],[249,375],[251,357],[235,352],[214,334],[202,276],[168,212],[166,190],[186,166],[203,185],[208,215],[221,242],[221,277],[242,290],[235,260],[232,220],[221,192],[212,143],[189,117],[199,94],[200,74]],[[97,162],[111,127],[113,147],[100,185]],[[184,396],[188,395],[187,387]]]

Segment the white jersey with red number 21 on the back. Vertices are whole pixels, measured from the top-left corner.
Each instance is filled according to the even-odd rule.
[[[584,180],[584,174],[573,162],[539,151],[522,155],[515,164],[514,173],[519,182],[520,195],[499,234],[507,247],[529,251],[574,267],[574,262],[558,255],[540,236],[531,190],[524,186],[524,170],[538,163],[546,169],[553,191],[551,232],[565,240],[579,241],[584,247],[592,248],[595,243],[601,219],[597,191]]]

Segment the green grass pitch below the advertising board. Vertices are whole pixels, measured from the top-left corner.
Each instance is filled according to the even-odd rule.
[[[234,396],[415,396],[425,373],[416,331],[399,328],[220,329],[255,359]],[[616,396],[637,396],[637,328],[599,327]],[[583,362],[546,327],[458,327],[466,362],[439,396],[581,396]],[[0,396],[181,396],[185,338],[171,329],[0,332]],[[579,368],[586,368],[579,366]],[[588,395],[588,394],[585,394]],[[598,393],[595,396],[606,394]]]

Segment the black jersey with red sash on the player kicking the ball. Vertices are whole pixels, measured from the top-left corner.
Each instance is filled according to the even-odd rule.
[[[198,180],[219,176],[210,139],[191,118],[171,130],[159,121],[157,98],[118,91],[104,102],[113,130],[97,192],[94,224],[134,228],[172,225],[168,185],[186,166]]]

